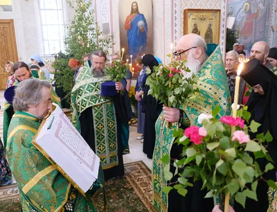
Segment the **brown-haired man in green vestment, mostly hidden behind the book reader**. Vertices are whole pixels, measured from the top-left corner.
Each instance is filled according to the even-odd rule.
[[[19,85],[19,82],[26,80],[28,78],[39,78],[39,74],[37,70],[30,70],[28,65],[25,62],[16,62],[15,66],[13,67],[13,72],[15,73],[15,77],[17,78],[17,82],[15,82],[14,86]],[[45,76],[41,76],[42,80],[46,80]],[[54,89],[51,89],[52,92],[52,103],[56,103],[60,105],[60,98],[57,96]],[[4,105],[4,113],[3,113],[3,143],[6,147],[7,144],[7,134],[8,134],[8,127],[10,125],[10,119],[14,114],[14,109],[10,103],[6,102]]]

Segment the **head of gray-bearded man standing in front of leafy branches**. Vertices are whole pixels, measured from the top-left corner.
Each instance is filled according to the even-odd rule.
[[[94,51],[91,55],[91,74],[95,78],[105,76],[106,53],[102,50]]]

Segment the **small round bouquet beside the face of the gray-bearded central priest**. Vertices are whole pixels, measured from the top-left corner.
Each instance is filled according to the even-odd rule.
[[[107,76],[111,78],[111,81],[121,82],[121,80],[126,77],[128,67],[125,62],[116,60],[107,64],[106,69]]]

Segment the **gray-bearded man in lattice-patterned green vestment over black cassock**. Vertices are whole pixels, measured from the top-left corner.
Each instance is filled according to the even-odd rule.
[[[124,175],[123,151],[127,141],[120,136],[120,127],[132,118],[129,96],[121,82],[116,82],[116,96],[101,95],[105,76],[103,51],[92,53],[91,70],[84,67],[75,79],[71,92],[71,122],[100,158],[105,179]]]

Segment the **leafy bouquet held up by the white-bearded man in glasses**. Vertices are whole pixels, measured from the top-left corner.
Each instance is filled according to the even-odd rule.
[[[168,107],[179,107],[186,104],[188,99],[197,98],[199,91],[194,89],[193,85],[197,83],[198,78],[186,78],[186,73],[190,72],[190,69],[185,64],[186,61],[172,62],[171,71],[170,67],[163,64],[154,67],[152,73],[148,70],[148,95],[154,96]]]

